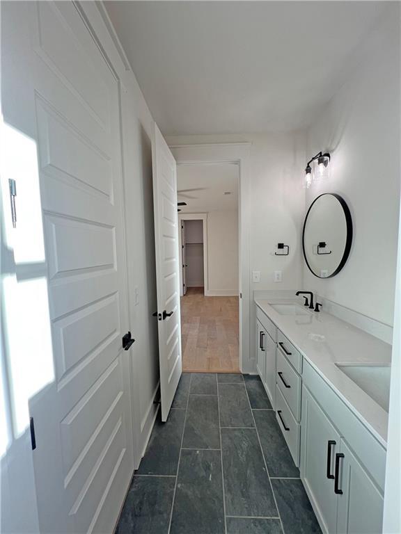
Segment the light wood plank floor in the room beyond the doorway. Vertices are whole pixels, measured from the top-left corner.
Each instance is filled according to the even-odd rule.
[[[181,298],[182,370],[239,371],[238,297],[205,297],[191,287]]]

